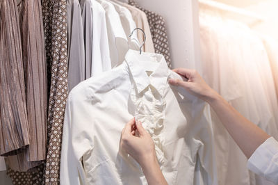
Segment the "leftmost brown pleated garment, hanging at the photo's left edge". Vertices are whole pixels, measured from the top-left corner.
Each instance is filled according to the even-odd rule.
[[[28,147],[28,121],[17,1],[0,1],[0,154]]]

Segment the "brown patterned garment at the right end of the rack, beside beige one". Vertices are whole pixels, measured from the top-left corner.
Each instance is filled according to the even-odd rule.
[[[172,68],[166,25],[163,17],[161,17],[161,15],[158,15],[157,13],[141,8],[133,0],[129,0],[129,4],[145,12],[149,22],[149,29],[151,29],[152,33],[154,51],[156,52],[156,54],[162,54],[165,57],[168,67]]]

